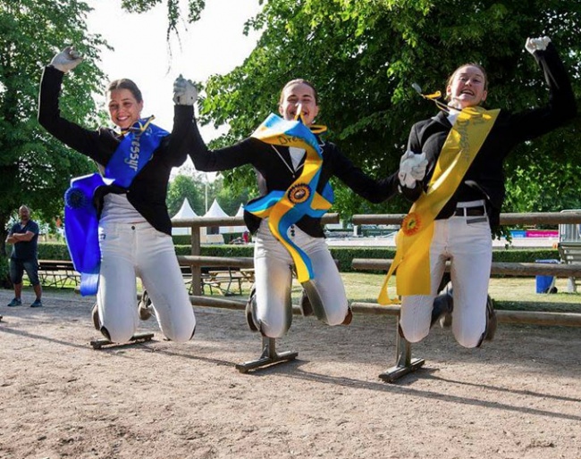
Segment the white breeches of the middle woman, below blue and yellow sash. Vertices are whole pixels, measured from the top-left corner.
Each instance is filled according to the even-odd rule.
[[[329,325],[341,324],[348,313],[347,296],[341,275],[324,238],[313,238],[296,226],[288,234],[305,251],[313,265],[313,284],[322,300],[325,315],[319,319]],[[262,221],[254,248],[256,317],[262,332],[269,338],[280,338],[290,328],[292,264],[289,252],[268,228],[268,221]]]

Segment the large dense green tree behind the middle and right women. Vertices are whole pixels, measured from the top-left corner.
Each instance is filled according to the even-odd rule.
[[[411,83],[425,92],[444,90],[450,71],[478,62],[490,72],[487,106],[518,111],[544,103],[540,71],[523,46],[526,37],[548,35],[571,69],[578,98],[580,27],[581,4],[573,0],[271,0],[248,21],[248,28],[264,31],[245,63],[206,81],[201,118],[215,126],[229,124],[214,145],[230,144],[248,137],[276,110],[287,80],[310,79],[320,92],[320,121],[329,125],[329,138],[365,171],[384,176],[397,169],[411,124],[436,111]],[[505,210],[581,205],[567,191],[580,185],[579,129],[577,121],[518,147],[507,164]],[[571,181],[563,183],[564,176]],[[248,171],[233,171],[230,177],[252,179]],[[525,192],[539,184],[555,195]],[[343,213],[368,207],[347,193],[338,195]],[[395,199],[373,212],[406,212],[408,206]]]

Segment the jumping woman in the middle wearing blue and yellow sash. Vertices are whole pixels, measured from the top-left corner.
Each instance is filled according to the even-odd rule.
[[[313,126],[318,110],[315,88],[295,79],[282,89],[282,117],[272,114],[239,144],[209,151],[193,127],[191,156],[198,171],[224,171],[243,164],[252,164],[257,171],[262,196],[245,206],[248,230],[256,233],[256,296],[249,302],[247,320],[250,329],[269,338],[282,337],[290,328],[291,266],[319,320],[329,325],[351,321],[341,276],[321,226],[321,217],[333,204],[329,179],[336,176],[373,203],[392,196],[400,183],[397,174],[380,180],[367,177],[337,146],[322,141],[313,132],[320,130]],[[417,178],[424,176],[425,163],[416,158],[408,163],[415,166]]]

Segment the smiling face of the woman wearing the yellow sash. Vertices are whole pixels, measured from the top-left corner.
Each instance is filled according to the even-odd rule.
[[[446,95],[450,100],[448,104],[459,110],[481,104],[486,100],[487,94],[484,71],[470,64],[459,67],[446,88]]]

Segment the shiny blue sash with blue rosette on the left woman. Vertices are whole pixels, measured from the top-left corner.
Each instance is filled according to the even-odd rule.
[[[93,201],[99,187],[129,188],[169,134],[150,124],[153,117],[137,121],[122,139],[105,166],[105,177],[91,174],[71,180],[64,193],[64,234],[72,264],[80,272],[80,294],[95,295],[99,285],[101,250],[98,238],[97,207]]]

